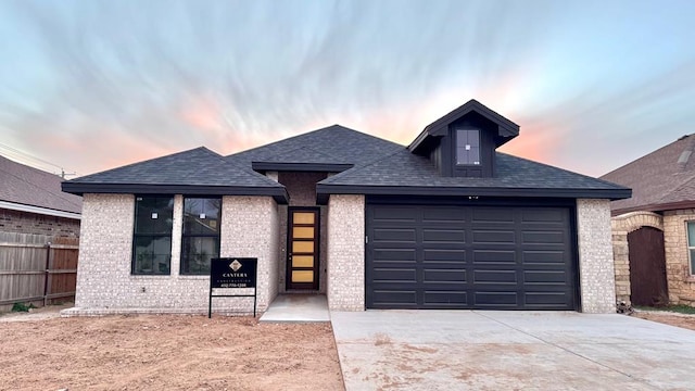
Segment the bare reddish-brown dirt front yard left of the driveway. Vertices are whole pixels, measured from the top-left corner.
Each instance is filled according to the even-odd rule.
[[[0,390],[344,390],[330,324],[54,316],[0,316]]]

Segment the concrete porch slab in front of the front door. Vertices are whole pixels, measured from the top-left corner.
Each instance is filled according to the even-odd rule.
[[[258,321],[330,321],[328,301],[324,294],[279,294]]]

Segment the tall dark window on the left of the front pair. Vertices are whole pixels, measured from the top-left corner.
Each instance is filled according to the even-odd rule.
[[[168,275],[172,261],[173,197],[137,197],[131,273]]]

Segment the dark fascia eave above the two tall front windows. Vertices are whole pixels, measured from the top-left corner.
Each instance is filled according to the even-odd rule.
[[[142,185],[142,184],[84,184],[66,181],[63,191],[83,195],[85,193],[113,194],[197,194],[197,195],[268,195],[277,203],[287,204],[289,195],[282,186],[212,186],[212,185]]]

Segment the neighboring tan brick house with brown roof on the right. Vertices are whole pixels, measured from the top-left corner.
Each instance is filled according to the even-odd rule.
[[[618,298],[695,305],[695,135],[602,178],[633,189],[611,202]]]

